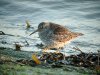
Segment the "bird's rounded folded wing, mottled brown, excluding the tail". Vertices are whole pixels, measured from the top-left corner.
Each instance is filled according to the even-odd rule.
[[[71,32],[60,25],[54,25],[51,26],[53,32],[52,32],[52,39],[58,42],[65,42],[69,41],[72,38]]]

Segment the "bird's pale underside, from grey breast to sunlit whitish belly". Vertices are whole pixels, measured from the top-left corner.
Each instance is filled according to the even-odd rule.
[[[58,42],[58,41],[50,38],[50,35],[52,36],[52,34],[50,32],[46,32],[46,31],[39,32],[39,37],[40,37],[41,41],[47,47],[59,48],[59,47],[64,47],[65,44],[69,43],[69,42]]]

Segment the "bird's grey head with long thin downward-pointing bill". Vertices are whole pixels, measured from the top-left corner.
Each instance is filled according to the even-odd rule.
[[[50,25],[49,22],[41,22],[38,25],[38,29],[32,32],[30,35],[34,34],[35,32],[41,32],[42,30],[49,28],[49,25]]]

